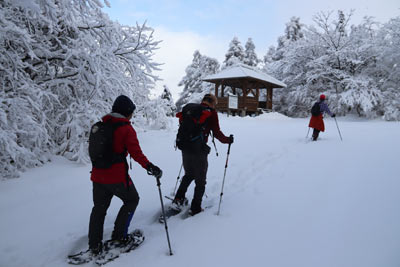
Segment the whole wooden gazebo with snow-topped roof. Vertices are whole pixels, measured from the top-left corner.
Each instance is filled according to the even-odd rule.
[[[206,76],[203,81],[215,84],[218,111],[244,115],[257,114],[259,109],[272,110],[272,90],[286,87],[283,82],[244,64],[234,65],[219,73]],[[227,86],[232,88],[233,95],[225,95]],[[259,99],[262,89],[267,90],[265,101]]]

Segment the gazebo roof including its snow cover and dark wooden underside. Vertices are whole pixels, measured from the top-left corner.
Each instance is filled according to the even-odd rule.
[[[203,78],[206,82],[222,82],[228,86],[239,87],[240,80],[247,80],[253,84],[264,87],[283,88],[286,84],[260,70],[244,64],[233,65],[219,73],[208,75]]]

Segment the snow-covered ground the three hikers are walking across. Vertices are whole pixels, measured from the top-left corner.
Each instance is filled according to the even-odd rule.
[[[204,199],[213,207],[168,221],[173,256],[164,226],[155,222],[155,179],[134,164],[141,199],[131,229],[143,229],[146,241],[107,266],[400,266],[400,123],[338,123],[343,141],[328,118],[321,139],[309,142],[308,119],[220,115],[224,133],[235,135],[221,214],[215,215],[227,146],[217,141],[220,155],[210,153]],[[181,164],[175,131],[138,136],[150,161],[163,169],[162,190],[169,195]],[[89,165],[56,157],[0,182],[0,266],[67,266],[66,256],[87,246],[89,171]],[[120,205],[114,198],[106,238]]]

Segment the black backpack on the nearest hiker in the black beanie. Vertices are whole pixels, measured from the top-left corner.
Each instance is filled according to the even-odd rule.
[[[89,156],[92,166],[97,169],[108,169],[117,162],[125,162],[125,153],[116,154],[113,151],[114,131],[129,122],[102,122],[95,123],[90,129]]]

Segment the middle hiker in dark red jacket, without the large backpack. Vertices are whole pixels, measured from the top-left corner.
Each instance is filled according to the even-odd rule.
[[[210,152],[210,147],[207,146],[208,136],[210,131],[213,132],[215,138],[217,138],[221,143],[230,144],[233,143],[233,135],[229,137],[225,136],[219,127],[218,114],[215,111],[215,106],[217,104],[217,98],[212,94],[206,94],[203,97],[201,106],[203,106],[203,115],[199,118],[200,121],[204,119],[204,129],[200,135],[199,140],[201,140],[200,145],[202,149],[199,150],[182,150],[182,161],[183,168],[185,170],[185,175],[182,177],[181,184],[173,200],[172,209],[177,212],[182,210],[182,206],[186,204],[187,200],[185,198],[186,191],[191,184],[195,181],[194,195],[191,202],[189,214],[195,215],[202,211],[201,202],[206,188],[206,176],[208,168],[208,153]],[[199,106],[198,104],[187,104],[187,106]],[[183,108],[183,110],[185,107]],[[183,111],[182,110],[182,111]],[[178,113],[177,117],[182,121],[182,113]],[[179,133],[178,133],[179,134]]]

